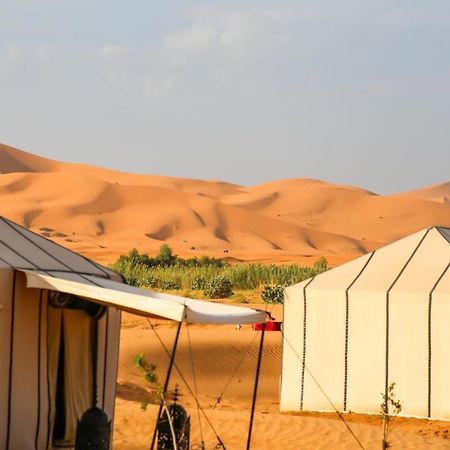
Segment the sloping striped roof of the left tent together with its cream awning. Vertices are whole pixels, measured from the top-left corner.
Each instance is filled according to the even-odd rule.
[[[25,273],[30,288],[89,298],[143,316],[195,323],[257,323],[266,313],[128,286],[120,275],[0,217],[0,267]]]

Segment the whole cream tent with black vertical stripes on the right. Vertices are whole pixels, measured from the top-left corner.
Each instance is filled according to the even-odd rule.
[[[424,229],[285,291],[281,410],[450,419],[450,229]]]

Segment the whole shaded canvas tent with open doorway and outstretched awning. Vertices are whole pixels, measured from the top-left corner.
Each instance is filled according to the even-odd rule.
[[[105,305],[96,353],[94,319],[82,309],[52,306],[55,292]],[[127,286],[116,273],[0,217],[0,449],[72,443],[77,419],[91,406],[95,354],[97,406],[113,418],[121,310],[191,323],[266,318]]]

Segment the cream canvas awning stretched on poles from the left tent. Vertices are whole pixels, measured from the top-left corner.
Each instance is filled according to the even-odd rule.
[[[65,292],[141,316],[178,322],[248,324],[266,321],[266,313],[240,306],[222,305],[139,289],[106,278],[77,273],[20,270],[27,287]]]

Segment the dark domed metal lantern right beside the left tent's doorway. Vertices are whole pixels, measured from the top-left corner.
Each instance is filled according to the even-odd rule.
[[[109,450],[111,421],[97,407],[88,409],[77,424],[75,450]]]

